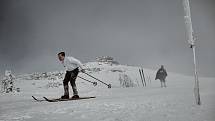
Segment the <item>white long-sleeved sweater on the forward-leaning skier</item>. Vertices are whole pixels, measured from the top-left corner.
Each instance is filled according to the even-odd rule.
[[[65,57],[62,61],[62,64],[66,68],[66,71],[72,71],[78,67],[80,67],[80,69],[83,69],[82,63],[78,59],[71,56]]]

